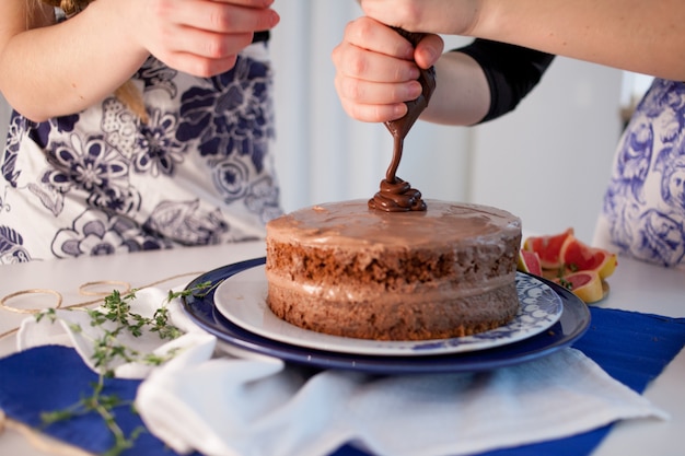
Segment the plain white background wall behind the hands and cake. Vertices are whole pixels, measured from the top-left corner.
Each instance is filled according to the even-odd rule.
[[[392,156],[383,125],[351,120],[333,85],[330,51],[357,2],[279,0],[274,31],[277,166],[290,211],[318,202],[369,198]],[[446,47],[468,39],[445,37]],[[524,230],[568,226],[592,241],[619,136],[622,72],[558,58],[519,108],[475,128],[418,122],[398,175],[427,198],[497,206]],[[9,120],[0,100],[0,135]]]

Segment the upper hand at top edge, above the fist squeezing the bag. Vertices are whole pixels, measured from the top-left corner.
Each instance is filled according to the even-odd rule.
[[[363,12],[409,32],[467,35],[478,20],[479,0],[360,0]]]

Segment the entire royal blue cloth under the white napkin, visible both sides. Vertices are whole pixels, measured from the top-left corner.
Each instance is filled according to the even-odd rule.
[[[685,318],[669,318],[617,309],[592,307],[588,332],[574,343],[609,375],[638,393],[655,378],[685,344]],[[97,376],[83,364],[74,350],[39,347],[0,360],[0,408],[7,416],[63,442],[101,454],[114,439],[94,412],[44,426],[42,411],[61,410],[92,390]],[[106,379],[103,394],[132,401],[140,381]],[[116,421],[128,434],[143,426],[140,417],[124,405],[115,409]],[[178,417],[179,420],[183,417]],[[143,426],[144,428],[144,426]],[[479,456],[583,456],[589,455],[609,432],[604,426],[585,434],[487,452]],[[163,442],[143,432],[123,456],[175,455]],[[195,453],[194,455],[198,455]],[[332,456],[367,456],[345,445]]]

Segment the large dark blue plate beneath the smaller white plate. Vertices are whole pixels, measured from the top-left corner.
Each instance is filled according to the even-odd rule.
[[[590,325],[590,312],[582,301],[562,287],[538,279],[558,294],[564,309],[559,320],[547,330],[518,342],[486,350],[421,356],[368,355],[312,349],[279,342],[247,331],[231,323],[217,309],[214,304],[217,288],[225,279],[241,271],[264,265],[264,258],[256,258],[201,274],[193,280],[186,289],[194,290],[204,282],[211,282],[213,287],[209,291],[196,291],[185,296],[184,308],[197,325],[214,335],[219,340],[242,350],[280,358],[295,364],[378,374],[487,371],[534,360],[568,347],[580,338]]]

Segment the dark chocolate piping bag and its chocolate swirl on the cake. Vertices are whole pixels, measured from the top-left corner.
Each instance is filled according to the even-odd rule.
[[[411,33],[396,27],[395,31],[414,46],[423,37],[422,33]],[[409,183],[396,176],[404,151],[404,139],[414,122],[419,118],[419,115],[428,106],[428,102],[436,90],[436,70],[432,67],[428,70],[421,70],[419,82],[423,90],[416,100],[406,102],[408,108],[407,114],[397,120],[385,122],[385,127],[387,127],[394,138],[393,160],[385,173],[385,179],[381,180],[381,190],[369,200],[369,208],[371,209],[386,212],[426,210],[426,202],[421,199],[421,192],[416,188],[411,188]]]

